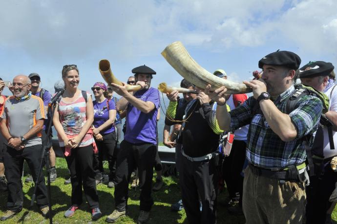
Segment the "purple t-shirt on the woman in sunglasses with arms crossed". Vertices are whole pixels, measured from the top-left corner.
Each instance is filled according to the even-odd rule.
[[[94,127],[101,126],[104,122],[106,122],[109,119],[109,111],[108,111],[108,104],[109,104],[109,110],[116,110],[115,102],[109,101],[105,99],[103,102],[97,102],[93,101],[94,104]],[[111,124],[110,126],[107,126],[103,131],[101,131],[101,134],[108,134],[115,130],[115,127]]]

